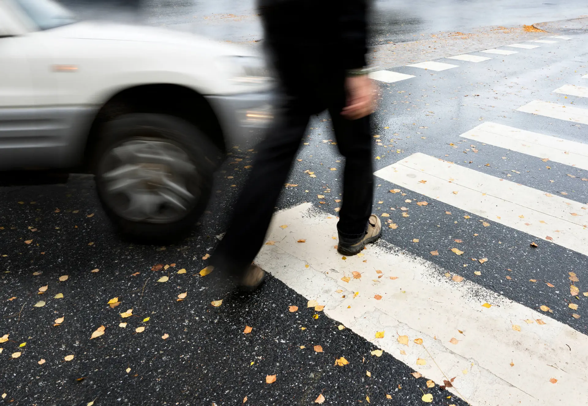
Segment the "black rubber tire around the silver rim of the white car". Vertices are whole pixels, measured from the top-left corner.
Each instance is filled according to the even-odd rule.
[[[185,204],[185,211],[176,216],[169,216],[167,220],[165,215],[158,219],[130,219],[124,215],[124,205],[132,206],[131,198],[122,192],[112,192],[112,186],[109,187],[109,184],[112,185],[113,182],[109,176],[115,171],[111,168],[112,172],[109,172],[108,166],[115,159],[113,157],[118,157],[113,152],[125,148],[129,143],[151,143],[149,145],[163,145],[178,152],[181,150],[186,162],[191,164],[184,165],[182,161],[182,165],[189,168],[182,173],[186,178],[185,189],[194,197],[190,204]],[[217,154],[218,151],[197,127],[175,116],[133,113],[106,122],[99,132],[94,155],[96,190],[103,209],[116,230],[127,239],[149,244],[177,241],[192,229],[193,224],[206,209],[211,196],[212,173],[215,167],[211,159]],[[191,170],[192,166],[195,171]],[[162,173],[167,172],[163,170]],[[173,174],[173,171],[171,173]],[[176,176],[174,179],[182,176]]]

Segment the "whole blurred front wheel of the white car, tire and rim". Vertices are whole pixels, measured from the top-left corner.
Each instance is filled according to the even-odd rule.
[[[197,127],[174,116],[138,113],[106,122],[95,169],[106,214],[132,240],[181,238],[208,203],[213,153]]]

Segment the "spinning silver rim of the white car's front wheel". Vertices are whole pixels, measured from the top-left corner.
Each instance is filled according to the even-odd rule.
[[[181,146],[162,139],[131,139],[108,150],[99,163],[103,197],[133,222],[182,219],[201,197],[198,170]]]

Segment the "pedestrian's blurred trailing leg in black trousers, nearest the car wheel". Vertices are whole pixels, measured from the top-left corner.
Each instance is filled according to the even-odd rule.
[[[308,118],[305,110],[288,106],[258,145],[229,229],[211,257],[215,268],[239,277],[259,252]]]

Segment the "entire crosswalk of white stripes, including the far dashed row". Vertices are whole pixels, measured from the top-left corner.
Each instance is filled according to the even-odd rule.
[[[532,52],[541,46],[535,43],[550,45],[572,39],[548,38],[509,46]],[[519,51],[480,52],[512,55]],[[446,59],[483,63],[492,58],[463,54]],[[439,61],[407,65],[430,71],[457,66]],[[390,83],[415,76],[378,71],[371,77]],[[588,176],[582,171],[588,170],[588,141],[533,132],[525,123],[542,116],[588,124],[588,108],[574,105],[573,100],[562,104],[557,97],[586,98],[588,88],[564,84],[549,91],[552,99],[526,100],[513,110],[521,118],[520,128],[486,121],[456,136],[486,149],[505,149],[543,160],[546,165],[559,163],[578,182],[577,187],[586,187],[588,179],[583,176]],[[486,219],[532,240],[588,256],[588,203],[570,199],[565,192],[525,186],[509,174],[493,176],[477,166],[420,152],[377,170],[375,176],[381,183],[389,182],[390,189],[398,187],[455,207],[453,213],[468,222],[486,223]],[[481,220],[472,219],[473,215]],[[278,212],[268,239],[280,243],[264,246],[256,262],[308,300],[325,306],[327,316],[427,379],[443,385],[448,376],[457,377],[454,387],[447,390],[471,405],[586,403],[588,335],[546,316],[549,308],[527,307],[474,281],[455,279],[452,270],[385,241],[358,256],[342,257],[334,246],[336,222],[335,214],[326,214],[310,203]],[[297,242],[301,239],[306,241],[305,250]],[[577,296],[582,306],[588,292]],[[573,306],[570,309],[569,317],[580,317],[573,313]]]

